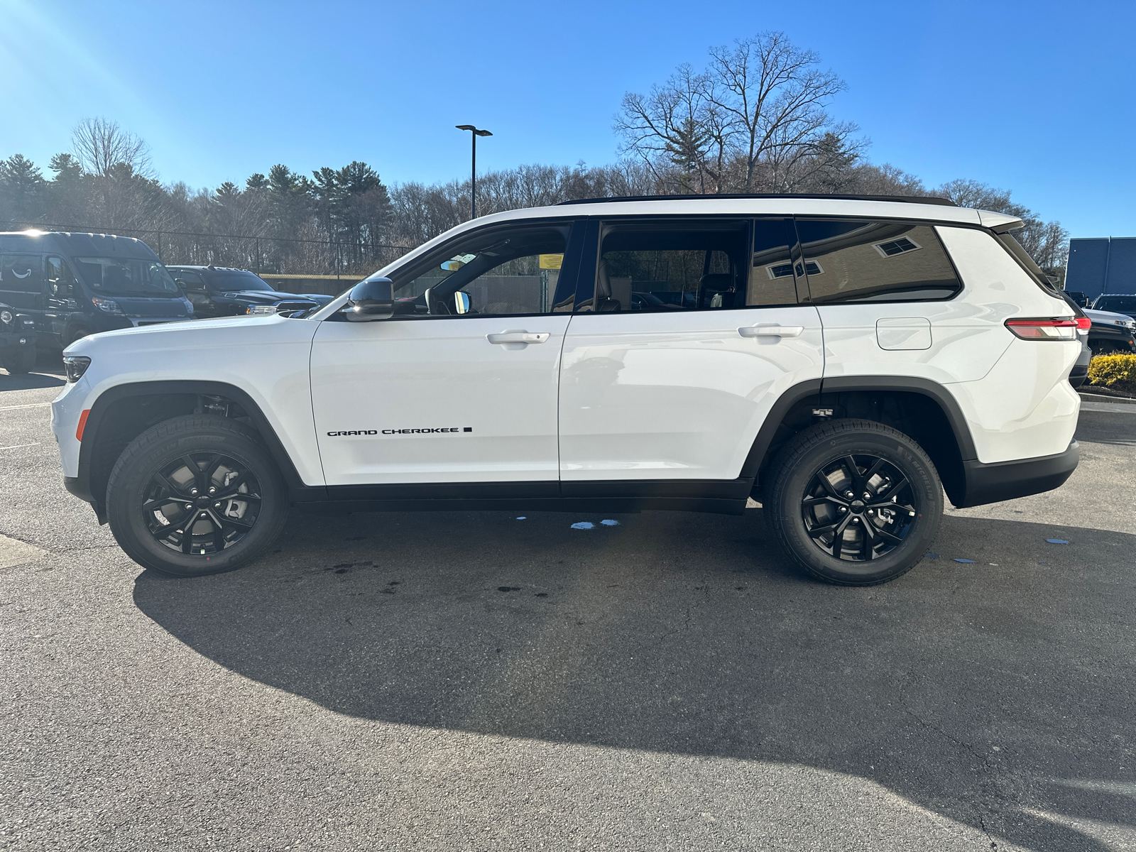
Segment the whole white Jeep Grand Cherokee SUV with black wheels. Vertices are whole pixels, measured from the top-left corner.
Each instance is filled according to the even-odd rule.
[[[976,506],[1077,465],[1078,316],[938,199],[603,199],[468,222],[309,315],[107,332],[65,353],[66,484],[140,565],[265,551],[290,504],[763,503],[869,585]]]

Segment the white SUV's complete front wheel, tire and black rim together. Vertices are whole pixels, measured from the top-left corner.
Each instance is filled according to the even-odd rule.
[[[147,429],[107,483],[119,546],[143,568],[178,577],[252,561],[279,535],[287,510],[284,481],[257,433],[223,417],[186,415]]]

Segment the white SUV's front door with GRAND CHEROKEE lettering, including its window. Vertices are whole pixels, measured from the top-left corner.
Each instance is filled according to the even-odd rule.
[[[320,324],[311,394],[327,485],[529,482],[556,493],[569,231],[478,229],[392,274],[390,319]]]

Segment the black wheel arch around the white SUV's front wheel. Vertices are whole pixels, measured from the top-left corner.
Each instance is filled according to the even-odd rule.
[[[109,387],[91,406],[80,442],[78,470],[68,488],[94,507],[106,523],[106,491],[110,469],[123,450],[151,426],[170,417],[200,412],[203,400],[219,404],[225,416],[245,417],[276,461],[293,499],[311,499],[319,487],[304,485],[292,458],[260,406],[240,387],[225,382],[132,382]],[[229,409],[235,403],[237,409]],[[229,415],[229,411],[233,411]]]

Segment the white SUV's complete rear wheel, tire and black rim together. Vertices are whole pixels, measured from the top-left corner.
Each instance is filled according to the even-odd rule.
[[[836,585],[871,586],[907,574],[934,544],[943,518],[943,485],[930,458],[872,420],[805,429],[777,456],[767,482],[763,509],[774,536],[805,571]]]

